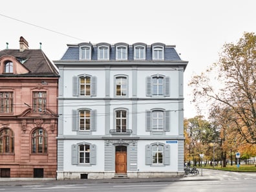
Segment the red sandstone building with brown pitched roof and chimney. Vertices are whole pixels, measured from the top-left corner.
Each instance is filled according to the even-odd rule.
[[[0,180],[55,178],[58,70],[41,49],[0,51]]]

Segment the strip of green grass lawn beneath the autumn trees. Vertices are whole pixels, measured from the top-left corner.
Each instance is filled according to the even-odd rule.
[[[237,165],[227,165],[226,167],[221,167],[220,165],[215,167],[210,167],[207,165],[206,167],[203,167],[205,169],[216,169],[216,170],[222,170],[222,171],[241,171],[241,172],[256,172],[256,166],[255,165],[240,165],[239,168],[237,168]]]

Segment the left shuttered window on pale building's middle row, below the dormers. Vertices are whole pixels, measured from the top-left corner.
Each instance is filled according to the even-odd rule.
[[[72,131],[81,131],[84,134],[96,131],[96,110],[72,110]]]

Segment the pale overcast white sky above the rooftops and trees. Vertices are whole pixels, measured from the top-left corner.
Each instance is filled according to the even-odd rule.
[[[197,115],[187,86],[219,58],[224,43],[256,32],[255,0],[4,0],[0,5],[0,50],[39,48],[58,60],[69,43],[176,45],[183,60],[184,116]]]

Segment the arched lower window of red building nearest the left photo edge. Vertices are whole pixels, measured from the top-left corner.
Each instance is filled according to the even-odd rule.
[[[14,132],[11,129],[0,131],[0,153],[14,153]]]

